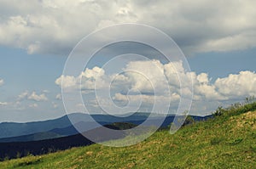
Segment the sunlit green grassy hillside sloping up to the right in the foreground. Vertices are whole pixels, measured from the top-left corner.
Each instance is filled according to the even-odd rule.
[[[248,111],[249,110],[249,111]],[[215,118],[174,135],[161,130],[125,148],[93,144],[49,155],[3,161],[1,168],[254,168],[256,104],[218,108]]]

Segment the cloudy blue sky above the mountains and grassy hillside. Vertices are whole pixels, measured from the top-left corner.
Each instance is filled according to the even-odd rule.
[[[172,99],[173,112],[181,99],[173,66],[185,80],[193,80],[191,115],[208,115],[219,105],[227,106],[256,95],[255,6],[256,2],[250,0],[80,0],[65,3],[32,0],[29,4],[2,0],[0,122],[43,121],[66,115],[61,81],[62,91],[75,93],[80,87],[80,78],[84,104],[90,112],[102,113],[104,108],[117,113],[113,103],[121,107],[128,103],[131,108],[141,103],[139,110],[150,111],[154,99],[160,101],[157,103],[160,107],[165,107]],[[93,31],[125,23],[149,25],[172,37],[188,60],[190,70],[184,69],[184,62],[167,63],[153,48],[120,42],[100,50],[79,74],[62,75],[68,55],[81,39]],[[90,40],[90,45],[94,47],[107,41],[110,34],[119,35],[123,31],[98,36]],[[137,37],[158,42],[147,31],[129,31]],[[130,54],[116,59],[113,65],[102,67],[115,55],[129,54],[131,50],[147,59]],[[116,74],[115,70],[124,72]],[[109,89],[111,79],[113,86]],[[99,82],[97,90],[96,82]],[[183,87],[185,97],[189,96],[192,93],[189,84],[184,82]],[[113,103],[104,96],[96,98],[96,91],[106,88],[110,90]],[[170,91],[166,92],[168,88]],[[82,105],[71,103],[73,108],[68,112],[83,111]]]

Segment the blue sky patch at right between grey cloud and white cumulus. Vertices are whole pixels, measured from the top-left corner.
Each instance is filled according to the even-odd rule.
[[[191,70],[206,72],[212,80],[236,74],[241,70],[255,71],[256,48],[231,52],[210,52],[187,57]]]

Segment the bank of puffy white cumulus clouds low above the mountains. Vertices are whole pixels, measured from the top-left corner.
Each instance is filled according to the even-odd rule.
[[[230,74],[212,82],[207,73],[196,74],[194,71],[184,70],[181,61],[168,64],[162,64],[155,59],[131,61],[123,70],[124,73],[122,74],[107,75],[102,68],[95,67],[91,70],[86,69],[81,72],[80,76],[61,76],[55,83],[61,86],[61,78],[63,78],[62,87],[79,89],[79,79],[84,77],[81,83],[81,86],[84,87],[82,89],[91,90],[94,89],[96,80],[100,79],[102,84],[112,85],[108,88],[108,90],[113,91],[112,99],[124,103],[128,101],[137,103],[139,100],[144,100],[148,104],[152,104],[154,100],[161,100],[161,102],[165,103],[170,99],[173,103],[176,103],[181,97],[181,78],[184,79],[183,96],[186,97],[194,93],[194,100],[197,102],[201,100],[243,99],[250,95],[256,95],[256,74],[252,71]],[[189,78],[193,81],[194,91],[189,88]],[[112,82],[109,83],[107,81]],[[167,81],[167,83],[164,81]],[[102,87],[96,88],[96,90],[101,90]],[[170,93],[167,93],[166,89],[170,89]],[[104,103],[106,102],[104,101],[105,98],[101,99]]]

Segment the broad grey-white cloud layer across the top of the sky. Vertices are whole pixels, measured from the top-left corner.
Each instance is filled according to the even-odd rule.
[[[245,49],[256,46],[254,6],[256,2],[250,0],[44,0],[28,7],[26,2],[4,0],[0,5],[0,42],[24,48],[29,54],[67,54],[91,31],[133,22],[165,31],[186,54]]]

